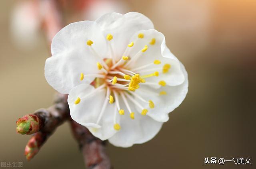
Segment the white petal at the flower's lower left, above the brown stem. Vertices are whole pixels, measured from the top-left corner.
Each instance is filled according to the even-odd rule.
[[[94,136],[101,140],[106,140],[117,132],[114,130],[114,104],[109,104],[107,102],[102,118],[97,124],[102,106],[106,100],[106,89],[103,88],[98,92],[83,98],[94,90],[96,89],[93,86],[82,84],[74,87],[70,91],[70,94],[68,95],[70,116],[77,123],[87,127]],[[80,103],[74,104],[78,97],[81,99]],[[117,122],[119,122],[119,117],[117,118]]]

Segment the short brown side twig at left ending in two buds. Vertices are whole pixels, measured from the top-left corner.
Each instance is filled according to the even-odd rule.
[[[16,131],[20,134],[34,134],[25,147],[28,160],[34,157],[54,130],[70,116],[66,94],[57,94],[55,104],[47,109],[27,114],[16,122]]]

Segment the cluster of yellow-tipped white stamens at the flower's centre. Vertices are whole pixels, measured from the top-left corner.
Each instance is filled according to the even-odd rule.
[[[138,39],[144,38],[143,33],[138,34]],[[143,49],[138,51],[136,55],[133,57],[129,56],[130,49],[134,46],[134,42],[131,42],[130,44],[127,45],[126,50],[124,51],[124,55],[120,58],[117,59],[116,56],[114,55],[113,49],[112,49],[112,44],[111,40],[113,39],[113,35],[108,34],[106,36],[106,39],[108,41],[108,46],[110,50],[110,58],[102,58],[98,53],[94,50],[93,48],[93,41],[88,40],[87,45],[90,47],[92,53],[94,56],[97,58],[98,62],[96,63],[95,66],[98,67],[98,70],[101,71],[101,73],[97,74],[90,74],[90,75],[84,75],[84,73],[81,73],[80,75],[80,81],[83,81],[84,78],[86,77],[95,77],[94,81],[91,83],[96,89],[90,94],[95,94],[98,91],[106,90],[106,100],[103,103],[102,110],[100,112],[100,115],[97,120],[97,124],[100,122],[102,114],[104,113],[104,110],[106,108],[107,102],[109,104],[115,104],[115,112],[114,112],[114,129],[115,130],[120,130],[120,125],[116,122],[116,116],[117,112],[119,112],[120,115],[124,115],[124,109],[120,107],[120,99],[123,100],[127,110],[130,113],[130,118],[134,119],[135,118],[135,110],[132,110],[128,100],[130,102],[134,103],[138,108],[141,109],[141,114],[145,116],[148,112],[148,109],[145,109],[141,102],[146,102],[149,106],[149,108],[154,108],[154,102],[152,100],[145,100],[141,96],[139,96],[135,91],[140,88],[140,84],[146,84],[146,78],[150,77],[158,77],[159,75],[159,70],[162,70],[162,73],[167,73],[170,69],[170,64],[165,64],[163,67],[160,68],[155,68],[155,69],[146,69],[148,67],[154,66],[154,65],[160,65],[161,61],[155,60],[154,63],[150,63],[148,65],[144,65],[141,67],[137,67],[134,69],[130,69],[130,65],[135,63],[139,57],[141,57],[147,50],[148,50],[148,45],[145,45]],[[150,42],[149,45],[154,45],[156,43],[156,39],[153,38]],[[146,70],[145,70],[146,69]],[[143,72],[149,72],[151,71],[152,73],[146,74],[146,75],[140,75],[138,72],[143,73]],[[165,81],[159,81],[158,83],[147,83],[149,85],[160,85],[160,86],[165,86],[166,82]],[[145,91],[145,92],[152,92],[152,91]],[[157,94],[157,93],[156,93]],[[157,95],[165,95],[165,91],[161,91]],[[88,96],[87,95],[87,96]],[[74,104],[79,104],[80,100],[82,98],[77,98],[77,100],[74,102]],[[138,101],[139,100],[139,101]]]

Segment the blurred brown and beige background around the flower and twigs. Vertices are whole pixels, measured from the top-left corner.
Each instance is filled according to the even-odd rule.
[[[44,9],[48,1],[0,1],[0,161],[21,161],[26,169],[84,168],[68,123],[29,162],[23,154],[30,136],[15,131],[18,118],[53,101],[44,63],[59,28],[42,24],[54,15]],[[110,11],[148,16],[188,71],[186,99],[153,140],[131,148],[108,144],[115,169],[256,168],[255,0],[58,1],[64,25]],[[205,165],[204,157],[248,157],[252,164]]]

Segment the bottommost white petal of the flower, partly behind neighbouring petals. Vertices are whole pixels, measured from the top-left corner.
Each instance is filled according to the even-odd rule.
[[[157,122],[148,116],[142,116],[136,112],[133,104],[130,104],[135,111],[135,118],[131,119],[124,103],[121,102],[121,108],[124,108],[125,114],[121,115],[121,129],[108,141],[118,147],[131,147],[133,144],[145,143],[156,136],[162,127],[162,122]]]

